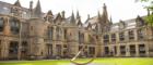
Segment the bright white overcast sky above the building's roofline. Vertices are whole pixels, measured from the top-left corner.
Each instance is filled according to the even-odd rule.
[[[14,3],[16,0],[0,0],[9,3]],[[30,8],[30,1],[34,1],[34,6],[37,0],[20,0],[21,5]],[[119,20],[126,21],[136,18],[138,15],[146,15],[146,10],[143,8],[144,3],[136,2],[136,0],[39,0],[42,10],[44,13],[51,10],[54,14],[61,11],[66,11],[66,17],[69,17],[72,13],[80,12],[82,22],[85,22],[87,14],[90,16],[96,16],[97,11],[103,13],[103,4],[107,5],[108,17],[111,17],[113,22],[119,22]]]

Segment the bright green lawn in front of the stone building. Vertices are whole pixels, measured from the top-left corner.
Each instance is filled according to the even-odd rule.
[[[80,63],[87,58],[76,60]],[[0,62],[0,65],[72,65],[69,60],[49,61],[9,61]],[[93,65],[153,65],[153,57],[102,57],[96,58]]]

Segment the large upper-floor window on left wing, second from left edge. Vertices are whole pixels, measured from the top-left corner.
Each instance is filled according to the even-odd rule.
[[[16,35],[20,31],[20,22],[16,18],[10,20],[11,32]]]

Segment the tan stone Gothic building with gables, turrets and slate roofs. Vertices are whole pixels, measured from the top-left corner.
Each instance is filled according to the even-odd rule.
[[[93,40],[94,35],[96,40]],[[42,12],[40,2],[23,8],[0,2],[0,60],[72,57],[84,47],[80,56],[153,56],[153,30],[143,17],[108,20],[107,6],[103,14],[83,24],[79,12],[64,17]],[[98,49],[97,49],[98,48]]]

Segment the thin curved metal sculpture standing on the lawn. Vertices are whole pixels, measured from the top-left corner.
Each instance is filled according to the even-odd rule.
[[[95,41],[95,44],[96,44],[95,46],[95,54],[93,55],[93,57],[90,61],[87,61],[85,63],[78,63],[78,62],[75,62],[76,57],[79,57],[80,53],[84,50],[85,47],[83,47],[78,52],[78,54],[73,58],[70,60],[70,62],[73,63],[74,65],[87,65],[87,64],[91,64],[96,58],[96,55],[97,55],[97,39],[93,35],[90,35],[90,36],[93,38],[93,40]]]

